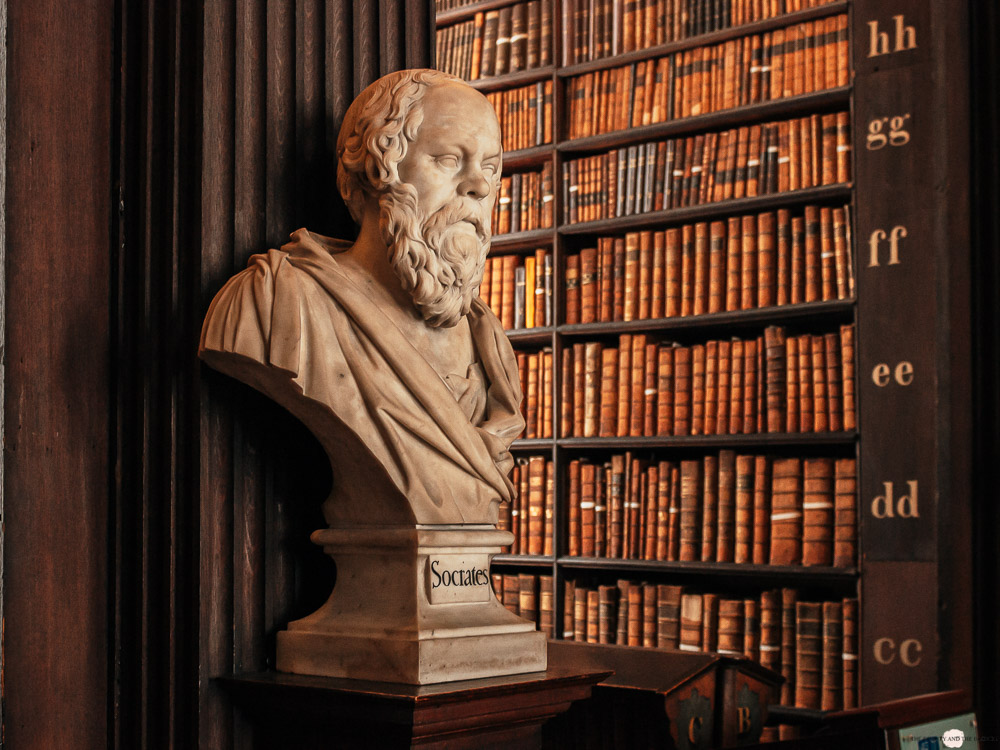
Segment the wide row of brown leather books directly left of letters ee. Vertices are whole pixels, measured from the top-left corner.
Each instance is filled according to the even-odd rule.
[[[680,346],[622,334],[560,360],[560,437],[839,432],[857,427],[854,326]]]

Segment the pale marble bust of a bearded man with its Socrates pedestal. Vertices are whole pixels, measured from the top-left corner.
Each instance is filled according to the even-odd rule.
[[[488,575],[510,541],[495,523],[524,426],[510,343],[478,296],[496,115],[460,79],[392,73],[348,109],[337,155],[357,240],[300,229],[253,256],[199,347],[301,419],[333,470],[330,528],[313,540],[337,584],[279,633],[277,666],[416,683],[544,669],[544,637],[496,602]]]

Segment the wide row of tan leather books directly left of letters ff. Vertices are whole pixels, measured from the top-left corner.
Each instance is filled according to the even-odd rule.
[[[848,207],[806,206],[601,237],[567,256],[567,324],[854,296]]]

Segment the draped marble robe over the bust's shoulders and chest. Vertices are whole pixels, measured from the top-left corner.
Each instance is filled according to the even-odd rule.
[[[317,436],[334,473],[328,523],[495,523],[524,426],[500,323],[474,299],[477,362],[442,378],[341,268],[349,248],[300,229],[254,255],[212,301],[200,356]]]

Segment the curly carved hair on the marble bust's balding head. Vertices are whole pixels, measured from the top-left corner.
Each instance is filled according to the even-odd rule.
[[[400,70],[368,86],[347,109],[337,138],[337,187],[354,220],[365,200],[399,183],[399,163],[424,119],[431,86],[461,78],[437,70]]]

